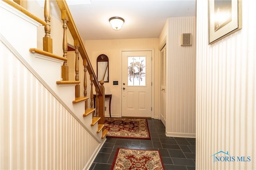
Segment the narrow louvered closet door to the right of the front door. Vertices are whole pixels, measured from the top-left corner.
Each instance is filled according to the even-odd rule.
[[[160,119],[164,126],[166,123],[166,45],[161,50],[161,110]]]

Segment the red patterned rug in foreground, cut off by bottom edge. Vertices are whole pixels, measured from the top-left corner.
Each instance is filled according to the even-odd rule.
[[[120,149],[111,170],[164,170],[159,150]]]

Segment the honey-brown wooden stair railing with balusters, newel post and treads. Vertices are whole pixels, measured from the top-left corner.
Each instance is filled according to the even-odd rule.
[[[66,63],[67,61],[67,57],[66,57],[66,52],[67,52],[67,37],[66,37],[66,29],[68,28],[70,30],[70,33],[74,39],[74,46],[76,48],[76,81],[68,81],[68,78],[66,78],[66,81],[57,81],[57,84],[79,84],[80,81],[79,77],[78,77],[78,62],[77,62],[77,58],[78,58],[78,51],[83,59],[83,65],[84,65],[84,96],[87,96],[87,79],[86,79],[86,72],[88,72],[88,74],[90,74],[90,80],[91,80],[91,107],[93,105],[92,100],[93,100],[93,85],[95,86],[95,91],[96,91],[96,100],[98,100],[98,102],[96,103],[96,114],[99,117],[94,117],[94,115],[92,115],[93,117],[93,125],[96,124],[96,122],[100,123],[98,126],[99,127],[103,127],[102,128],[102,139],[106,136],[107,130],[104,128],[104,123],[105,123],[105,116],[104,116],[104,101],[105,101],[105,88],[103,86],[104,81],[101,80],[100,84],[98,82],[98,79],[96,77],[96,74],[92,68],[92,65],[90,63],[89,57],[86,53],[85,47],[82,43],[82,39],[78,33],[78,30],[76,28],[76,25],[74,23],[74,20],[71,16],[71,13],[69,11],[68,5],[66,4],[65,0],[56,0],[60,11],[61,11],[61,19],[63,21],[63,28],[64,28],[64,36],[63,36],[63,57],[57,56],[52,54],[52,39],[50,37],[50,1],[49,0],[45,0],[45,8],[44,8],[44,16],[45,16],[45,21],[40,20],[39,18],[37,18],[36,16],[32,15],[30,12],[28,12],[28,10],[22,8],[21,6],[19,6],[17,3],[11,1],[11,0],[4,0],[6,3],[10,4],[11,6],[13,6],[14,8],[20,10],[21,12],[23,12],[24,14],[26,14],[27,16],[30,16],[31,18],[33,18],[34,20],[38,21],[39,23],[42,23],[42,25],[45,26],[45,36],[43,37],[43,49],[44,51],[40,50],[40,49],[30,49],[31,53],[38,53],[40,55],[46,55],[48,57],[53,57],[56,59],[61,59],[64,61],[64,63]],[[66,74],[65,76],[67,76],[68,74]],[[76,87],[76,89],[78,89],[78,87]],[[80,88],[79,88],[80,89]],[[85,101],[88,98],[84,98],[84,97],[79,97],[79,92],[76,92],[76,99],[73,100],[73,103],[78,103],[81,101]],[[86,109],[86,113],[83,114],[83,116],[86,116],[90,113],[92,113],[92,111],[94,111],[95,109],[87,109],[87,102],[85,102],[85,109]],[[91,124],[91,125],[92,125]],[[99,131],[99,130],[98,130]],[[98,133],[98,132],[97,132]]]

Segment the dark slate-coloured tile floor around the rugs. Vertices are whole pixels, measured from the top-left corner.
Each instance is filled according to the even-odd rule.
[[[160,150],[166,170],[195,170],[196,139],[166,137],[158,119],[148,119],[151,140],[107,138],[90,170],[110,170],[117,148]]]

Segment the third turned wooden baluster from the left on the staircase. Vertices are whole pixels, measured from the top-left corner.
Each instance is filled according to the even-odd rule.
[[[78,39],[74,39],[74,46],[76,48],[76,63],[75,63],[75,72],[76,72],[76,78],[75,80],[78,81],[79,80],[79,52],[78,52],[78,48],[80,46]],[[75,88],[75,96],[76,98],[80,97],[80,84],[76,84],[76,88]]]

